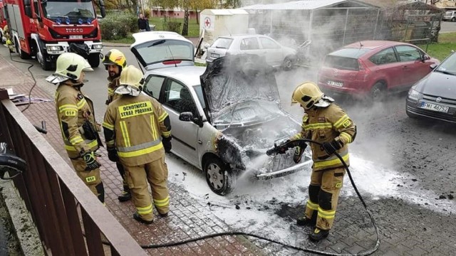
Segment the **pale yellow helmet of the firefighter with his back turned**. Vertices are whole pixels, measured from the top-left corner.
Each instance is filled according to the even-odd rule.
[[[115,93],[120,95],[138,96],[142,90],[142,71],[133,65],[128,65],[120,73],[120,86],[115,89]]]

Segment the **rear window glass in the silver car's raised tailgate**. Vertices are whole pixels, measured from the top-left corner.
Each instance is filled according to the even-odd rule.
[[[135,47],[142,58],[142,63],[151,65],[165,60],[190,60],[193,61],[193,44],[187,41],[162,39],[142,43]]]

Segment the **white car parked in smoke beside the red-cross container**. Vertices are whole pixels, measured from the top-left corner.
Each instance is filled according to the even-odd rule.
[[[264,35],[220,36],[207,48],[206,62],[210,63],[226,55],[254,54],[264,58],[274,68],[290,70],[296,64],[296,50],[281,46]]]

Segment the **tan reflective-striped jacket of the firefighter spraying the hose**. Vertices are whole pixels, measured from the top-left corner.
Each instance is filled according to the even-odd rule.
[[[292,139],[311,139],[316,142],[332,142],[336,140],[341,145],[337,153],[346,162],[348,159],[348,144],[356,137],[356,124],[348,117],[345,111],[332,103],[328,107],[315,107],[307,110],[302,118],[301,133],[296,134]],[[324,149],[315,143],[311,143],[314,171],[333,169],[343,166],[336,154],[328,156]]]

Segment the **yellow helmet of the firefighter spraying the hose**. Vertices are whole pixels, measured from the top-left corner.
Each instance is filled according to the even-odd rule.
[[[291,104],[299,103],[304,107],[304,110],[309,110],[320,103],[323,95],[324,93],[314,82],[303,82],[294,89],[293,95],[291,95]],[[327,105],[318,107],[327,107]]]

